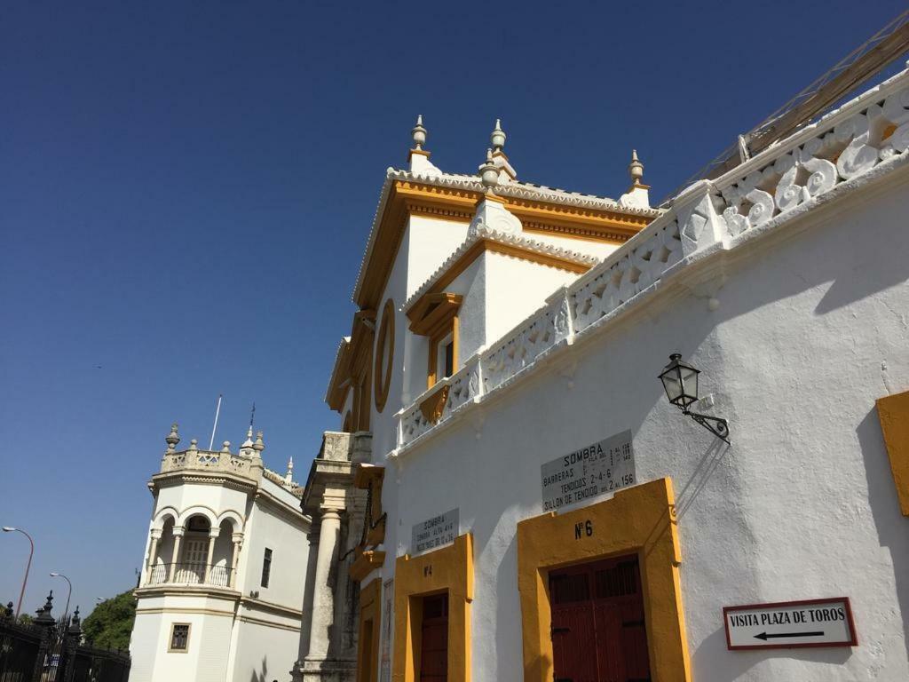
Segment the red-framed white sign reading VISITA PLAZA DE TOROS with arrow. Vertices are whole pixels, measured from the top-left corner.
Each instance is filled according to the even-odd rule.
[[[854,647],[848,597],[725,607],[729,649]]]

